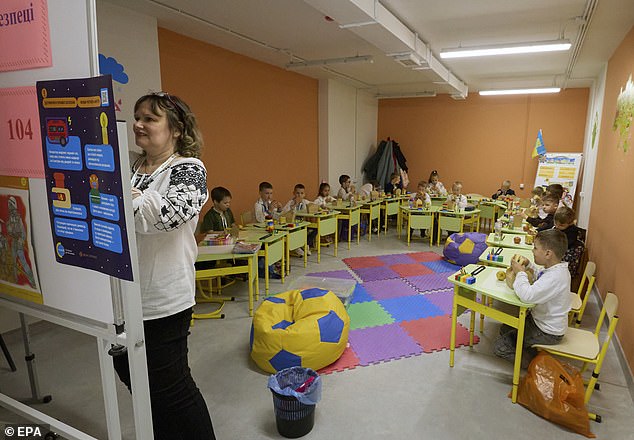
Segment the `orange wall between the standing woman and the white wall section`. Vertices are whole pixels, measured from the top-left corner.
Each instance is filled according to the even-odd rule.
[[[263,180],[283,203],[299,182],[314,199],[318,81],[166,29],[159,28],[158,36],[163,90],[183,98],[196,114],[207,184],[231,191],[234,215],[253,209]]]

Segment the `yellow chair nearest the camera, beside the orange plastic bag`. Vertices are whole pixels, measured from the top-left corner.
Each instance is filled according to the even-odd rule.
[[[534,348],[547,351],[548,353],[556,356],[563,356],[569,359],[582,361],[583,367],[581,372],[585,371],[589,363],[595,364],[592,376],[586,386],[586,393],[584,397],[585,404],[587,404],[590,400],[590,396],[592,396],[592,391],[594,391],[595,387],[598,389],[597,380],[599,378],[599,373],[601,373],[603,359],[605,359],[608,346],[610,345],[610,340],[612,339],[612,335],[616,329],[616,324],[619,321],[619,317],[616,314],[618,307],[618,297],[614,293],[608,292],[605,297],[605,301],[603,302],[603,308],[601,309],[601,314],[599,315],[599,320],[597,321],[597,326],[594,329],[594,332],[581,330],[576,327],[568,327],[566,334],[559,344],[533,345]],[[601,327],[603,326],[603,320],[606,316],[610,323],[608,326],[608,333],[601,344],[599,341],[599,333],[601,331]],[[592,420],[596,420],[599,423],[601,422],[600,415],[589,413],[589,416]]]

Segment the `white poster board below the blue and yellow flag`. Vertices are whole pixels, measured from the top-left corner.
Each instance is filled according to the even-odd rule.
[[[534,186],[559,183],[564,187],[563,202],[572,208],[582,159],[581,153],[546,153],[539,159]]]

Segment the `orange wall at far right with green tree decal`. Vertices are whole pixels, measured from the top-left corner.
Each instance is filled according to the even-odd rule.
[[[617,149],[618,137],[612,130],[616,98],[632,74],[634,28],[608,64],[588,227],[590,258],[597,263],[596,283],[603,296],[609,290],[619,297],[617,334],[630,368],[634,369],[634,151]],[[631,135],[629,142],[634,143]]]

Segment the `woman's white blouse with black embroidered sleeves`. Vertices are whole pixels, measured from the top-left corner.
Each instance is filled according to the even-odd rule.
[[[207,171],[198,159],[176,157],[157,175],[133,179],[142,191],[132,206],[143,318],[163,318],[194,305],[194,231],[207,201]]]

